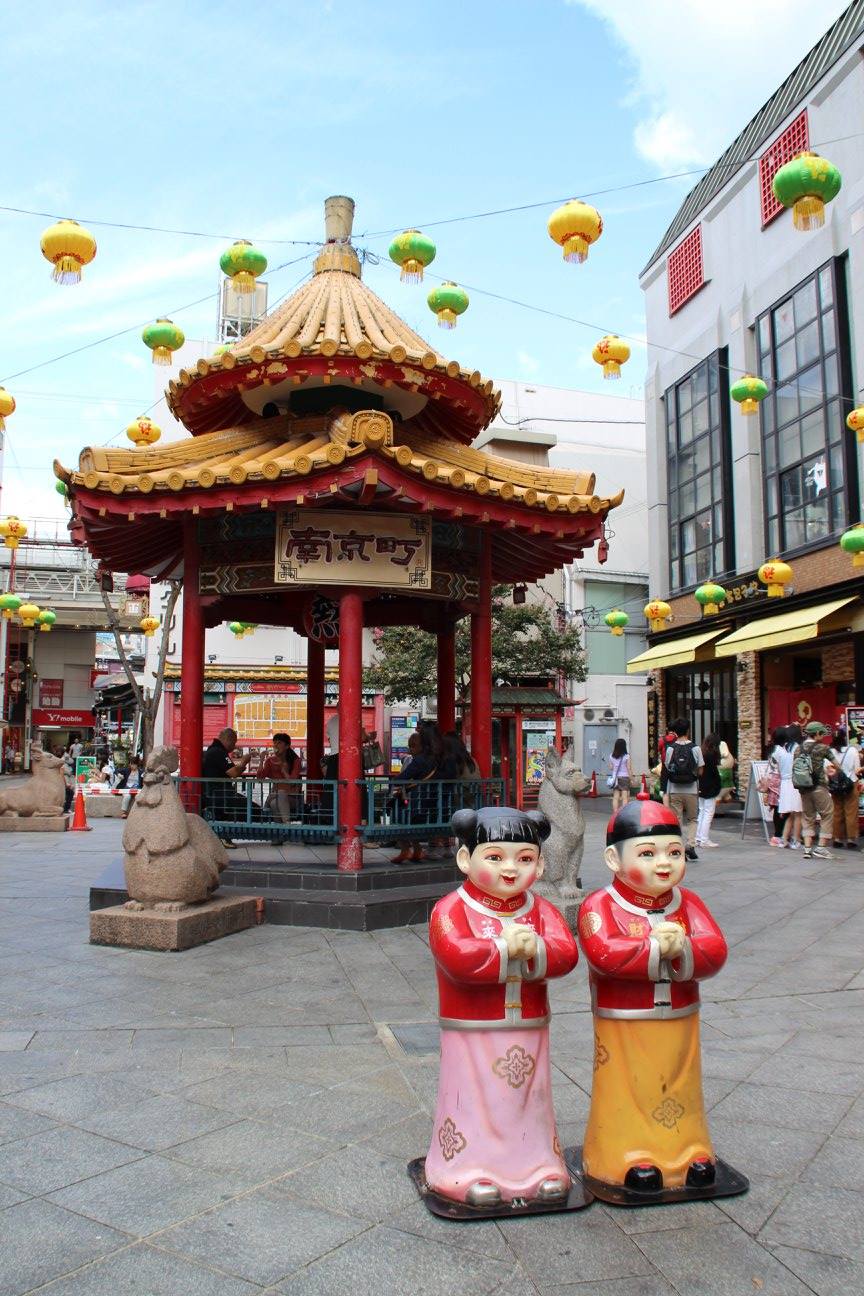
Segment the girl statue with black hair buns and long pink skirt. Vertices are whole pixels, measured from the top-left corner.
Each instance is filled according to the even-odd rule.
[[[451,827],[465,881],[438,901],[429,927],[440,1078],[425,1182],[438,1198],[488,1214],[576,1209],[587,1200],[567,1205],[547,980],[573,971],[579,953],[558,910],[530,890],[543,876],[549,820],[503,806],[459,810]]]

